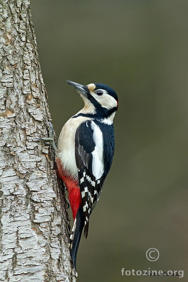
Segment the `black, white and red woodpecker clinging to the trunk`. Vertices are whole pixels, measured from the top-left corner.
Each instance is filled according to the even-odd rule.
[[[84,228],[87,238],[91,212],[112,165],[113,118],[118,109],[118,96],[111,87],[101,83],[83,86],[67,82],[85,103],[84,108],[65,123],[56,150],[59,175],[69,193],[74,219],[69,247],[76,268],[82,230]],[[47,139],[50,138],[44,138]]]

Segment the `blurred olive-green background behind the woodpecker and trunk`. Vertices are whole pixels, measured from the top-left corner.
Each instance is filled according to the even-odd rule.
[[[188,2],[31,0],[31,11],[57,136],[83,107],[66,80],[101,82],[119,97],[115,156],[77,281],[154,280],[122,268],[184,270],[187,281]]]

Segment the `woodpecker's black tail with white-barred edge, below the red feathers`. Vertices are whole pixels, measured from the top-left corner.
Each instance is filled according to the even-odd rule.
[[[83,213],[83,208],[79,207],[69,240],[70,256],[73,262],[73,267],[75,267],[75,269],[76,269],[76,257],[78,252],[78,246],[80,243],[81,233],[83,228],[84,228],[84,213]]]

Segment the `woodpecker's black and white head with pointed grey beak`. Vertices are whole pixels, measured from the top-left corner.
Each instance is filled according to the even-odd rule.
[[[109,86],[102,83],[81,85],[73,81],[67,81],[80,93],[85,106],[83,111],[96,118],[114,118],[118,109],[118,96]],[[80,111],[81,112],[81,111]]]

